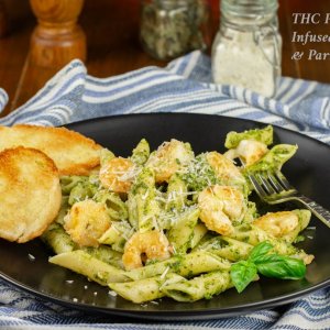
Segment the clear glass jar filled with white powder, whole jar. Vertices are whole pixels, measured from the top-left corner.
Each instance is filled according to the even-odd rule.
[[[274,96],[282,58],[277,8],[277,0],[221,1],[220,29],[212,45],[216,84]]]

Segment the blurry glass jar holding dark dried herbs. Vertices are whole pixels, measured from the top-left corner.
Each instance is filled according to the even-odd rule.
[[[143,0],[140,41],[146,53],[170,59],[193,50],[205,51],[209,8],[205,0]]]

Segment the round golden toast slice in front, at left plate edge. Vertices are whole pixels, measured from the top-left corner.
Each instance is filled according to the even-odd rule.
[[[0,153],[0,238],[24,243],[43,233],[61,207],[54,162],[22,146]]]

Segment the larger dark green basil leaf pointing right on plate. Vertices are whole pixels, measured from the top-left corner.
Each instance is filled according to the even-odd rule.
[[[301,260],[278,255],[267,254],[254,260],[257,272],[267,277],[282,279],[300,279],[306,274],[306,265]]]

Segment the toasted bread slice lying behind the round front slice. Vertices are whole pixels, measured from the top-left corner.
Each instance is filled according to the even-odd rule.
[[[88,175],[100,163],[101,146],[65,128],[28,124],[0,127],[0,152],[16,146],[44,152],[55,162],[59,175]]]

